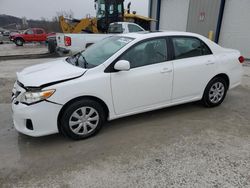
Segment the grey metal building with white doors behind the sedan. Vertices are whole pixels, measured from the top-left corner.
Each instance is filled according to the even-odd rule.
[[[250,0],[149,0],[151,29],[190,31],[250,58]]]

